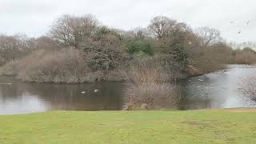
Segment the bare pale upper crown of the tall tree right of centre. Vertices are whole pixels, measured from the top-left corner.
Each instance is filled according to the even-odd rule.
[[[155,17],[151,20],[148,29],[157,38],[170,35],[170,30],[176,25],[176,21],[167,17]]]

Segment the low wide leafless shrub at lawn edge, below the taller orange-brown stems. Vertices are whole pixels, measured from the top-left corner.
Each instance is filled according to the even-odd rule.
[[[126,110],[174,109],[180,100],[177,88],[170,83],[130,84],[125,96]]]

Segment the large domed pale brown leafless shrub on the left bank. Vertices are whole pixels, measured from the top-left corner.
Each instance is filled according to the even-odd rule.
[[[81,50],[51,50],[36,63],[31,63],[18,73],[26,82],[80,82],[86,70]]]

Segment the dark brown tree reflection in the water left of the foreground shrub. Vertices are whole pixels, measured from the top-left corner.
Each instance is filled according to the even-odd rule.
[[[94,92],[96,89],[98,90],[97,93]],[[86,91],[86,94],[82,94],[82,91]],[[68,85],[18,82],[9,87],[0,87],[2,102],[26,95],[37,96],[48,110],[122,109],[121,83],[102,82]]]

